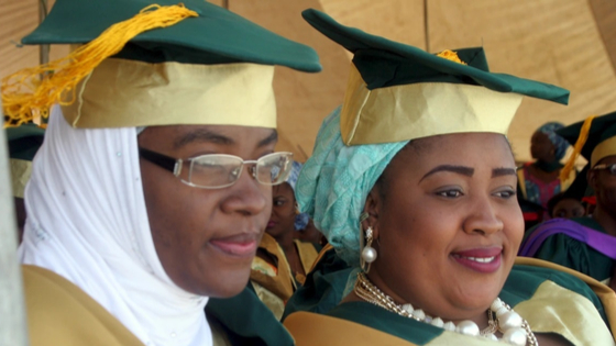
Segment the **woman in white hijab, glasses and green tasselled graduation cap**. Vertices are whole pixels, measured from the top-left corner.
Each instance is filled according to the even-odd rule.
[[[293,345],[246,283],[292,163],[273,65],[318,57],[206,1],[143,7],[56,1],[24,43],[85,45],[34,96],[2,86],[10,123],[62,104],[25,191],[30,342]]]

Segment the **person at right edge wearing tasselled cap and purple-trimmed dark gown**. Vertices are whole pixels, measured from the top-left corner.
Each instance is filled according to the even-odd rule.
[[[594,191],[596,209],[590,217],[557,219],[529,230],[520,255],[572,268],[615,289],[616,113],[588,118],[558,133],[572,145],[580,146],[576,154],[588,160],[583,170],[587,172],[580,178],[586,178]],[[576,157],[571,156],[570,165]]]

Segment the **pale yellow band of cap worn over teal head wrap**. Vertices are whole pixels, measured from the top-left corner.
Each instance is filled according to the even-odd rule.
[[[421,82],[369,90],[354,65],[342,105],[346,145],[507,130],[522,96],[481,86]]]

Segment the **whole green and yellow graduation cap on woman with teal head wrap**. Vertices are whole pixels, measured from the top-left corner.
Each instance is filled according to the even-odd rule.
[[[506,134],[522,96],[566,104],[556,86],[490,72],[483,48],[429,54],[337,23],[317,10],[304,19],[353,53],[340,127],[346,145],[439,134]]]

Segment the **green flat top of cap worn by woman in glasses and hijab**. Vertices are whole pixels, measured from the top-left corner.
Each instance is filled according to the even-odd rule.
[[[162,0],[161,5],[179,1]],[[120,53],[123,58],[148,63],[174,60],[187,64],[254,63],[282,65],[316,72],[317,53],[279,36],[240,15],[204,0],[182,1],[199,14],[179,23],[144,32]],[[153,4],[147,0],[58,0],[23,44],[84,44],[109,26],[128,20]]]

